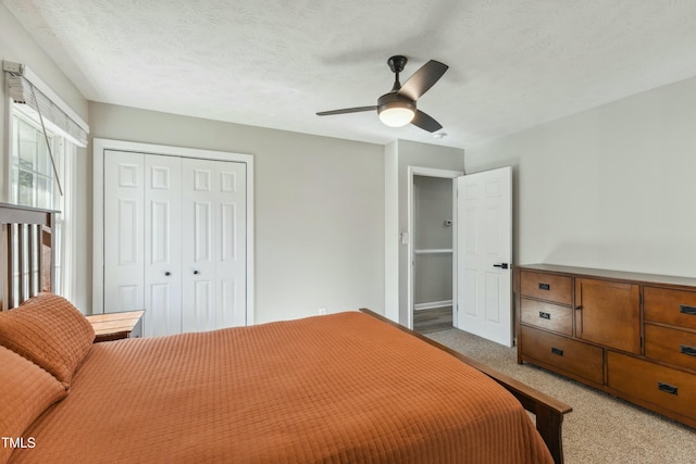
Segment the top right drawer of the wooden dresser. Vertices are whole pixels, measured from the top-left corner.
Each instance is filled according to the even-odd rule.
[[[645,287],[643,309],[646,321],[696,329],[696,291]]]

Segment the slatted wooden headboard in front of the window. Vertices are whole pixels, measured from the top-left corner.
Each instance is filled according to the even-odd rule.
[[[58,211],[0,203],[0,310],[54,287],[55,247],[51,228]]]

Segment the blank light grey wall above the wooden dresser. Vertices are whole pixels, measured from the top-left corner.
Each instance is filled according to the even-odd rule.
[[[696,276],[696,78],[467,148],[512,165],[515,262]]]

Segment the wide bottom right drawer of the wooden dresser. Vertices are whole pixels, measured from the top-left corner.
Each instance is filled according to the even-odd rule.
[[[607,354],[609,387],[696,417],[696,376],[625,354]]]

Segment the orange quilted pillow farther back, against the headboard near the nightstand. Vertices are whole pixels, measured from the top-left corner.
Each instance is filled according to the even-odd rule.
[[[0,312],[0,344],[53,374],[65,388],[95,341],[95,329],[73,304],[39,293]]]

